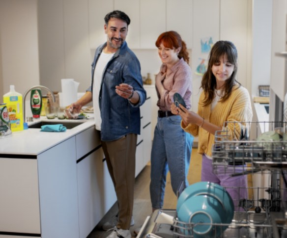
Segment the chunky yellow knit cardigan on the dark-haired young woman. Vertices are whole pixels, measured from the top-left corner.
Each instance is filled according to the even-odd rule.
[[[214,125],[223,127],[225,122],[251,122],[252,107],[250,96],[246,88],[235,85],[232,89],[230,98],[225,102],[218,102],[211,111],[211,104],[202,106],[201,102],[204,99],[204,92],[201,92],[198,114]],[[236,123],[237,124],[237,123]],[[194,136],[199,136],[198,153],[205,153],[207,156],[212,155],[212,146],[214,144],[214,135],[199,128],[196,124],[189,124],[187,127],[181,127],[185,132],[189,132]],[[227,125],[228,132],[236,138],[240,135],[240,128],[234,130],[232,123]],[[235,134],[233,133],[235,132]]]

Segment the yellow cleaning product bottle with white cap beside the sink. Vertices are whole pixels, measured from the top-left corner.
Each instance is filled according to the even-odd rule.
[[[9,112],[10,128],[12,132],[24,130],[22,100],[22,94],[15,91],[14,85],[10,85],[10,92],[3,96],[3,102],[6,104]]]

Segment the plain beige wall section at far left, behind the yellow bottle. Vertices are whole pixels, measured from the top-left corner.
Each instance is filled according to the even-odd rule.
[[[0,103],[10,84],[24,94],[39,84],[37,0],[0,1]]]

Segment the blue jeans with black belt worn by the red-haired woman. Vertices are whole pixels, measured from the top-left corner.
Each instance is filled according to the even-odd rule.
[[[176,194],[179,185],[187,187],[187,174],[194,137],[180,127],[180,116],[157,119],[151,149],[150,199],[154,209],[164,203],[166,177],[170,170],[172,190]]]

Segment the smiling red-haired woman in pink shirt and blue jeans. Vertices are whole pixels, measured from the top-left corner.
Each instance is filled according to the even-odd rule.
[[[175,194],[189,185],[187,174],[193,143],[193,136],[180,127],[180,116],[171,112],[174,93],[183,97],[187,109],[191,108],[192,72],[186,44],[177,32],[167,31],[155,45],[162,65],[155,79],[159,111],[151,150],[152,211],[163,207],[168,171]]]

